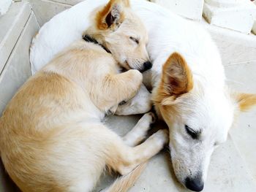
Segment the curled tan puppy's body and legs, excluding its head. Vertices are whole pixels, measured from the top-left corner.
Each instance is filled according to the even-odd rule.
[[[140,88],[138,70],[118,72],[114,55],[81,40],[15,94],[0,119],[0,152],[22,191],[91,191],[105,165],[129,174],[162,149],[166,131],[138,145],[153,121],[151,113],[125,139],[101,122],[105,112],[115,111]],[[140,171],[118,186],[129,188]]]

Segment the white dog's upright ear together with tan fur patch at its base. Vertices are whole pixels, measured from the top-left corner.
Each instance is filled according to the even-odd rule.
[[[177,110],[172,106],[173,101],[179,96],[184,96],[184,93],[188,93],[192,88],[192,72],[187,62],[179,53],[173,53],[162,67],[161,82],[152,95],[158,115],[161,117],[160,106],[162,114],[174,115]]]

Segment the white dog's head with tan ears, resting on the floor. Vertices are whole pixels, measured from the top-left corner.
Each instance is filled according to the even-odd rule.
[[[256,104],[256,96],[203,85],[184,58],[173,53],[163,66],[153,101],[170,130],[176,177],[190,190],[202,191],[211,153],[227,139],[236,114]]]

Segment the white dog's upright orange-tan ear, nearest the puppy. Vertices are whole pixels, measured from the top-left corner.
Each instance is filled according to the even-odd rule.
[[[192,88],[192,72],[187,62],[180,54],[173,53],[162,67],[162,80],[158,90],[162,104],[170,104]]]

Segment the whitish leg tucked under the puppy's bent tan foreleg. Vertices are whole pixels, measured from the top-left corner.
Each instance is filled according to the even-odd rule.
[[[118,105],[116,115],[142,114],[151,110],[151,107],[151,93],[149,93],[145,85],[142,84],[140,90],[132,99]]]

